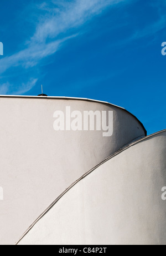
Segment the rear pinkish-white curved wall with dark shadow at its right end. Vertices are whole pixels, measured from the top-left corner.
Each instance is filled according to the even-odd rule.
[[[113,111],[113,135],[55,131],[53,114]],[[14,244],[71,183],[145,131],[127,111],[89,100],[0,97],[0,244]]]

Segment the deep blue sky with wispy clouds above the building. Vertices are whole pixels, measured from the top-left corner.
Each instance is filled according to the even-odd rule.
[[[85,97],[166,128],[166,1],[1,1],[0,94]]]

